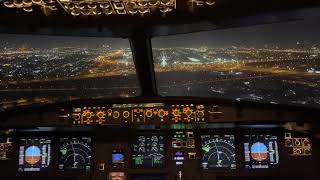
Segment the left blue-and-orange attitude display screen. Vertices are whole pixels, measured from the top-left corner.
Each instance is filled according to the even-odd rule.
[[[19,172],[42,171],[49,167],[51,140],[46,138],[21,139]]]

